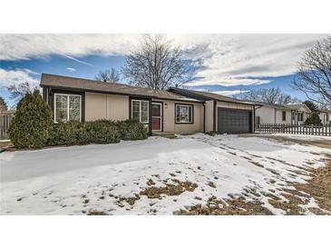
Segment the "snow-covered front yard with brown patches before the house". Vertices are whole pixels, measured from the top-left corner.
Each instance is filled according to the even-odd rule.
[[[261,137],[195,134],[0,154],[0,214],[173,214],[230,199],[286,211],[331,150]],[[288,194],[288,193],[287,193]],[[301,197],[300,197],[301,198]],[[302,197],[303,198],[303,197]],[[307,196],[301,208],[318,208]]]

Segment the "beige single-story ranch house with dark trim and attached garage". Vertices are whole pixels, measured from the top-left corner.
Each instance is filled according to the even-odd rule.
[[[257,104],[205,92],[168,91],[42,75],[44,100],[54,122],[135,119],[152,133],[251,133]]]

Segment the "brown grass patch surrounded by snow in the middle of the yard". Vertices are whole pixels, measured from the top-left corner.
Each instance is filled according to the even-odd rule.
[[[179,180],[172,179],[176,184],[165,184],[164,187],[150,186],[141,191],[141,195],[146,195],[150,199],[161,199],[161,194],[166,195],[180,195],[185,191],[193,192],[198,184],[192,184],[191,182],[180,182]]]

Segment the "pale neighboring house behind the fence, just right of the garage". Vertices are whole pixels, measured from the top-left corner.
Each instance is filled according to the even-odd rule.
[[[304,124],[310,110],[305,104],[277,105],[257,102],[257,124]]]

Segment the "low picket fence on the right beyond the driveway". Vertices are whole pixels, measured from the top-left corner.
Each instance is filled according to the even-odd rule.
[[[255,131],[258,133],[315,134],[331,136],[330,125],[258,124]]]

